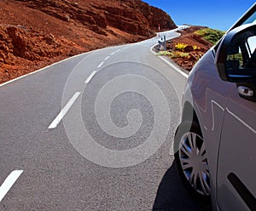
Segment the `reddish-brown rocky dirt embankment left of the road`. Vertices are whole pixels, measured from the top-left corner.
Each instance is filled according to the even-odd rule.
[[[140,0],[2,0],[0,83],[96,48],[133,43],[175,28]]]

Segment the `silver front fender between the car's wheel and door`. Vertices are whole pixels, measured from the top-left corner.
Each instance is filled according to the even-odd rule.
[[[183,104],[191,104],[201,125],[201,133],[206,142],[208,164],[211,172],[212,201],[216,199],[218,145],[227,105],[233,83],[220,79],[214,66],[212,50],[209,50],[190,72],[184,92]],[[191,114],[192,116],[192,114]]]

